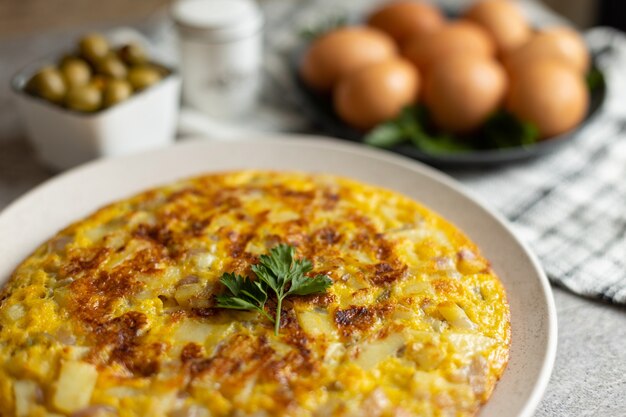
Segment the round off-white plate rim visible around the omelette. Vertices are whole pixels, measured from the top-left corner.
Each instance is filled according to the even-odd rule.
[[[208,171],[270,168],[349,176],[400,191],[451,220],[478,244],[502,279],[511,306],[508,368],[481,417],[527,417],[546,387],[556,352],[556,314],[537,260],[505,222],[453,180],[390,153],[316,137],[192,141],[102,160],[37,187],[0,214],[0,283],[59,229],[139,191]]]

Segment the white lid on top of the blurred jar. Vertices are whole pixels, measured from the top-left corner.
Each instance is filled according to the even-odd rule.
[[[263,26],[252,0],[179,0],[171,13],[183,35],[215,42],[250,36]]]

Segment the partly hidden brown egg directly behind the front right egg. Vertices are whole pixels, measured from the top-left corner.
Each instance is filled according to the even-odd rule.
[[[515,71],[520,65],[555,58],[561,60],[581,74],[589,69],[589,50],[582,37],[574,30],[566,27],[553,27],[542,30],[521,48],[505,57],[508,70]]]

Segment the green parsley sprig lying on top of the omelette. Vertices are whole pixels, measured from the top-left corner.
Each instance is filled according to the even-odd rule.
[[[333,281],[326,275],[308,277],[313,269],[308,259],[295,259],[293,246],[278,245],[269,255],[261,255],[259,263],[252,266],[257,279],[225,273],[220,282],[227,291],[217,296],[217,307],[234,310],[256,310],[274,323],[274,334],[278,335],[283,300],[289,295],[323,293]],[[276,297],[275,317],[265,311],[268,293]]]

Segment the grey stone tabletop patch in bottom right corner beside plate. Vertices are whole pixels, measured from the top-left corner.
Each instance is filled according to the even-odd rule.
[[[537,417],[626,415],[626,308],[554,288],[559,338]]]

